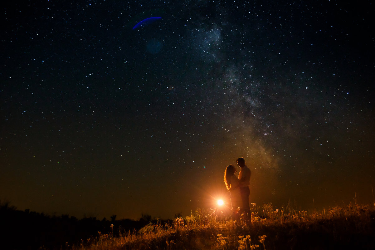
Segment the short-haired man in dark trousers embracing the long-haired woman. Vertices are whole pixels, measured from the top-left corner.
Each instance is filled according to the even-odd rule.
[[[240,208],[239,214],[243,213],[245,220],[251,221],[250,213],[250,204],[249,204],[249,195],[250,195],[250,176],[251,170],[245,164],[245,158],[240,157],[237,159],[237,165],[241,168],[240,173],[238,174],[238,179],[240,180],[240,192],[243,206]]]

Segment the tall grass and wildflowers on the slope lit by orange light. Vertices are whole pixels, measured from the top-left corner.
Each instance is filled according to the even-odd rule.
[[[232,220],[220,209],[196,209],[173,223],[157,221],[119,236],[98,232],[73,250],[117,249],[375,249],[375,208],[350,203],[323,211],[252,204],[251,221]]]

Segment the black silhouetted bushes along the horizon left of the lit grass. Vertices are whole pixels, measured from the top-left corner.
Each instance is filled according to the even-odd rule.
[[[49,216],[29,209],[19,211],[9,202],[3,202],[0,203],[1,249],[68,249],[73,244],[80,245],[98,236],[98,232],[118,236],[120,229],[121,232],[136,231],[151,221],[149,215],[147,220],[142,217],[138,221],[115,220],[115,217],[113,215],[111,221],[106,218],[98,220],[96,217],[78,220],[68,214]]]

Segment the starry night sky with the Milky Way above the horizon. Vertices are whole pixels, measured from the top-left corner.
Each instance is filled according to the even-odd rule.
[[[238,157],[251,203],[374,200],[371,1],[44,0],[2,12],[0,199],[18,209],[187,216],[228,201],[223,172]],[[149,17],[161,18],[133,29]]]

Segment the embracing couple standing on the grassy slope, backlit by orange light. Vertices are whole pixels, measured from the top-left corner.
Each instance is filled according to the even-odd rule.
[[[241,168],[238,178],[234,175],[237,169],[233,165],[227,166],[224,172],[226,189],[231,193],[232,217],[233,220],[238,220],[241,214],[243,214],[245,220],[251,222],[249,204],[251,171],[245,165],[245,159],[243,157],[237,159],[237,165]]]

